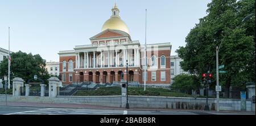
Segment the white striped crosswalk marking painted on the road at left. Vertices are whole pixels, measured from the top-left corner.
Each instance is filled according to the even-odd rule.
[[[84,108],[45,108],[40,110],[14,112],[6,115],[127,115],[126,110],[101,110],[101,109],[84,109]]]

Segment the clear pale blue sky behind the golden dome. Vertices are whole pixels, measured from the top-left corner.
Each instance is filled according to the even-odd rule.
[[[0,47],[40,54],[47,62],[59,61],[60,50],[90,44],[112,14],[114,3],[127,24],[132,40],[147,44],[171,42],[171,55],[185,46],[185,37],[207,15],[210,0],[0,0]]]

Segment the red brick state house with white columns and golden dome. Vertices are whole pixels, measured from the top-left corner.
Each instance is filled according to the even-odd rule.
[[[59,51],[60,76],[63,85],[90,81],[96,84],[126,81],[129,84],[170,84],[171,44],[147,44],[147,66],[144,66],[144,45],[132,41],[129,29],[119,16],[116,5],[101,32],[89,38],[90,45]]]

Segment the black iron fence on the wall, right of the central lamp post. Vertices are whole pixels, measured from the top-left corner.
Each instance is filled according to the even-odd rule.
[[[220,92],[220,98],[232,98],[240,99],[240,92],[244,91],[241,88],[232,87],[228,89],[222,89]],[[129,95],[152,95],[152,96],[164,96],[164,97],[198,97],[198,98],[216,98],[216,91],[213,88],[196,88],[196,89],[185,89],[176,86],[169,85],[146,85],[144,91],[144,85],[129,85]]]

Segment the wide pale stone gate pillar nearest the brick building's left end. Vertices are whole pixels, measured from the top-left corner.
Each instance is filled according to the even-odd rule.
[[[56,97],[59,94],[59,84],[60,80],[57,77],[49,78],[49,97]]]

